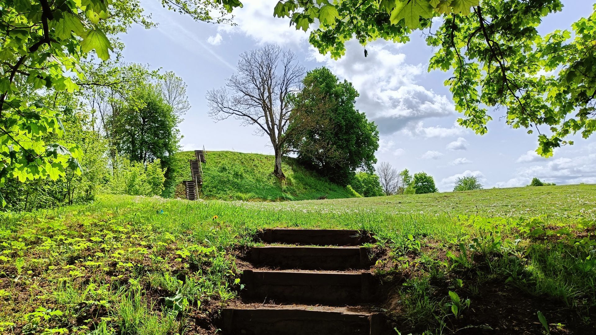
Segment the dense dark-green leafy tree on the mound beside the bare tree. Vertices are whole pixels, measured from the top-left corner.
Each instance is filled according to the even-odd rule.
[[[354,107],[358,91],[352,83],[341,82],[321,67],[309,71],[303,84],[291,98],[288,150],[297,153],[303,165],[336,182],[347,184],[356,169],[373,172],[377,126]]]

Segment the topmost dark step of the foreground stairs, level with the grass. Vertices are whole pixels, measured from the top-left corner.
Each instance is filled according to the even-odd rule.
[[[265,243],[308,244],[311,246],[359,246],[374,238],[358,230],[265,229],[258,234]]]

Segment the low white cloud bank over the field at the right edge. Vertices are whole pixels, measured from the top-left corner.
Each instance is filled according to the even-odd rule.
[[[542,165],[533,165],[516,170],[516,177],[496,183],[498,187],[518,187],[527,185],[537,177],[544,182],[555,184],[596,184],[596,154],[577,157],[551,159]]]

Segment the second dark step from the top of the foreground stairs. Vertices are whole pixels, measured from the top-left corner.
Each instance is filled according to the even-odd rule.
[[[253,265],[281,269],[345,270],[370,267],[365,247],[251,247]]]

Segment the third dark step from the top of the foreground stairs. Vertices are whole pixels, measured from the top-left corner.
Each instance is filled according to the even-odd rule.
[[[241,283],[250,299],[329,306],[368,302],[374,289],[368,272],[244,270]]]

